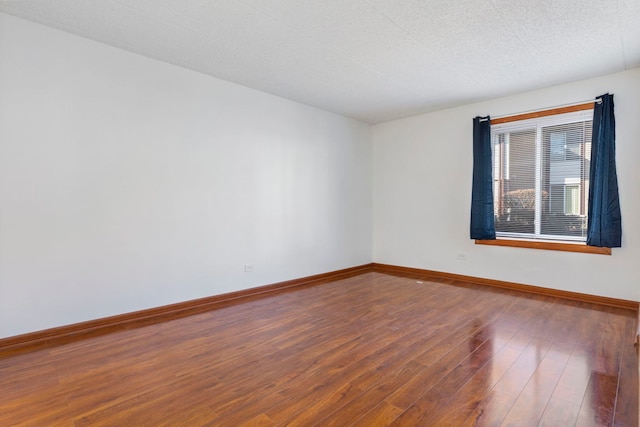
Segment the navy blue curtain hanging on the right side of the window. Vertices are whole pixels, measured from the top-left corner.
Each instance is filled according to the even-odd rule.
[[[621,246],[622,226],[616,173],[616,120],[613,95],[596,98],[593,109],[587,245]]]

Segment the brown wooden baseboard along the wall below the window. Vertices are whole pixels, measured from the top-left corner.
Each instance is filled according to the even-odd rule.
[[[460,282],[473,283],[476,285],[491,286],[494,288],[509,289],[513,291],[526,292],[529,294],[543,295],[562,298],[571,301],[588,302],[592,304],[605,305],[609,307],[624,308],[638,311],[640,303],[618,298],[609,298],[599,295],[583,294],[579,292],[562,291],[559,289],[543,288],[540,286],[523,285],[520,283],[505,282],[502,280],[484,279],[481,277],[465,276],[462,274],[445,273],[441,271],[423,270],[420,268],[401,267],[388,264],[372,264],[373,271],[396,276],[411,277],[425,280],[456,280]]]

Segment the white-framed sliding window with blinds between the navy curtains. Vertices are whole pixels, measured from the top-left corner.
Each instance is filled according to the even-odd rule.
[[[593,110],[492,125],[498,239],[584,242]]]

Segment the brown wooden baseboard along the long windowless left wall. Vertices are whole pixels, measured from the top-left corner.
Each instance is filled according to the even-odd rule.
[[[74,323],[42,331],[0,339],[0,357],[55,347],[81,339],[104,335],[124,329],[133,329],[154,323],[204,313],[229,304],[236,304],[267,294],[284,292],[291,288],[318,285],[372,271],[371,264],[360,265],[323,274],[287,280],[270,285],[229,292],[195,300],[154,307],[146,310]]]

